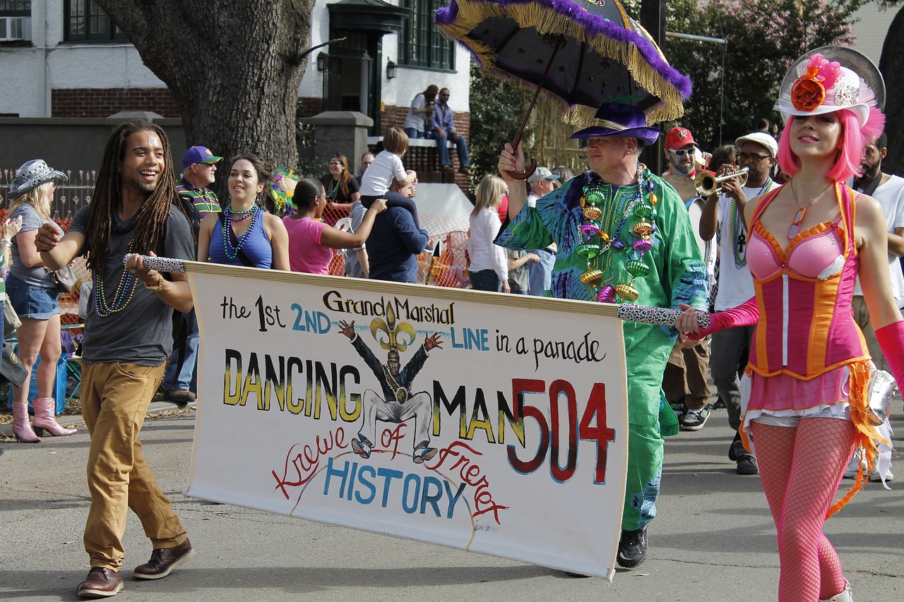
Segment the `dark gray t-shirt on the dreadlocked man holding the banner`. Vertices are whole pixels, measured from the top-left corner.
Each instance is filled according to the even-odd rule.
[[[88,236],[89,206],[82,207],[72,219],[71,232]],[[120,311],[106,317],[97,313],[94,297],[103,293],[107,306],[114,306],[117,287],[125,266],[122,259],[132,240],[135,218],[120,221],[114,218],[107,253],[107,275],[103,282],[95,281],[88,304],[85,322],[84,363],[137,363],[157,366],[165,362],[173,350],[173,308],[161,301],[137,280],[135,294]],[[174,259],[194,259],[194,241],[188,220],[176,208],[170,209],[166,222],[163,256]],[[155,252],[157,252],[155,250]],[[127,295],[128,295],[127,291]]]

